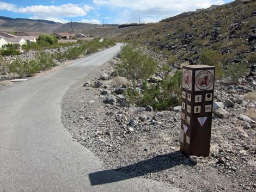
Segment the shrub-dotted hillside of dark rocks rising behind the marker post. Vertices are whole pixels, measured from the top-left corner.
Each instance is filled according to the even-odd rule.
[[[210,13],[131,29],[117,39],[144,47],[155,58],[175,67],[184,61],[202,63],[203,53],[212,56],[207,55],[209,49],[217,53],[217,58],[210,58],[220,64],[220,69],[235,63],[253,65],[256,62],[255,10],[256,2],[218,8]]]

